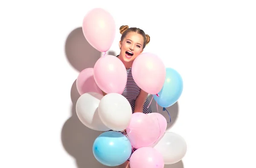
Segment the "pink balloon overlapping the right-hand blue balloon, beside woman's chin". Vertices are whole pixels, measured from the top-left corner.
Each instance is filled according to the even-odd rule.
[[[152,95],[160,92],[166,78],[163,61],[149,52],[142,53],[135,58],[131,72],[136,84]]]

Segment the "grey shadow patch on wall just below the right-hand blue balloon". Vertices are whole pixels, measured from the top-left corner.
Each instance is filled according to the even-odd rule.
[[[152,99],[152,95],[148,96],[148,100],[151,101],[151,99]],[[167,111],[169,112],[169,114],[171,116],[171,122],[169,124],[167,124],[166,130],[170,129],[175,124],[177,117],[178,117],[178,113],[179,113],[178,101],[175,104],[173,104],[172,106],[166,107],[167,111],[163,111],[163,107],[159,106],[157,104],[157,102],[154,100],[154,98],[150,105],[152,108],[152,112],[157,113],[157,108],[158,108],[158,112],[166,118],[167,122],[170,122],[170,117],[169,117]]]

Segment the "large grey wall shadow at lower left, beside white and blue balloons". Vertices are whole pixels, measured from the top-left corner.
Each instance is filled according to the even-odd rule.
[[[108,168],[93,156],[93,142],[102,132],[87,128],[76,115],[76,101],[79,96],[76,81],[74,81],[71,88],[72,116],[62,127],[62,144],[65,150],[76,159],[77,168]]]

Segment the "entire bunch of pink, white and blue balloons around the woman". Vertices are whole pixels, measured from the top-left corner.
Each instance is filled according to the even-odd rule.
[[[92,9],[85,15],[82,29],[95,49],[100,52],[110,49],[116,29],[109,12]],[[136,84],[152,94],[161,107],[172,106],[181,96],[180,74],[166,68],[155,54],[140,54],[132,65],[132,75]],[[132,113],[131,104],[122,96],[126,83],[127,72],[122,61],[105,54],[76,79],[79,120],[92,130],[103,131],[92,147],[96,160],[103,165],[118,166],[130,157],[131,168],[163,168],[179,162],[187,148],[183,137],[166,131],[167,121],[160,113]]]

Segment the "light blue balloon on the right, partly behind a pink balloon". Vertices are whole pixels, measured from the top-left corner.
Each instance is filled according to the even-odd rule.
[[[153,95],[153,97],[161,107],[170,107],[178,101],[182,91],[183,80],[180,74],[172,68],[166,68],[166,78],[158,93],[159,97],[157,95]]]

